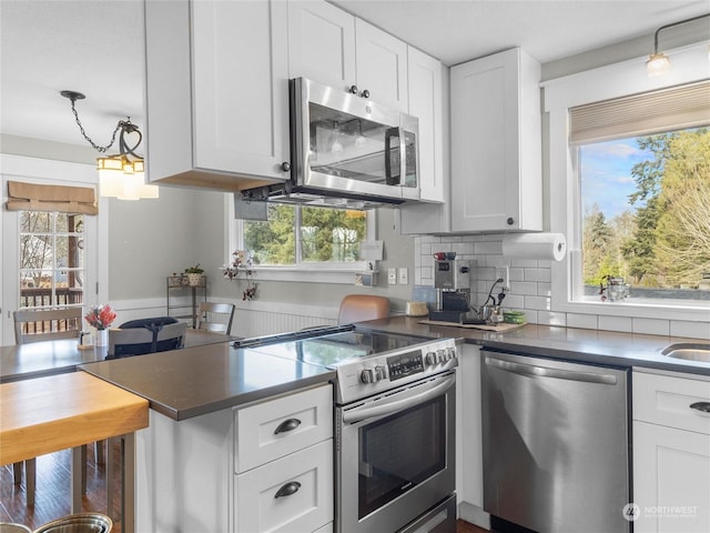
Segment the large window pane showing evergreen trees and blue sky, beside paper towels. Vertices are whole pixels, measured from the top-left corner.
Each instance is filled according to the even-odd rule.
[[[710,300],[710,130],[577,148],[584,294]]]

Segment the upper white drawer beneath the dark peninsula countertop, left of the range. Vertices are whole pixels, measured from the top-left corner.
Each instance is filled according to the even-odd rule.
[[[235,412],[236,473],[333,436],[331,384]]]

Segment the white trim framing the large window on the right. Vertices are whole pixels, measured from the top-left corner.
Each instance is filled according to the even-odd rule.
[[[708,42],[665,51],[671,60],[671,70],[662,77],[646,74],[647,58],[601,67],[577,74],[550,80],[541,84],[545,90],[545,112],[548,114],[550,231],[567,237],[569,252],[551,265],[550,310],[559,312],[605,314],[708,322],[707,302],[626,302],[572,301],[572,273],[579,271],[581,232],[578,212],[578,183],[569,149],[568,109],[586,103],[648,92],[667,87],[708,79]],[[572,268],[574,266],[574,268]],[[672,314],[672,316],[671,316]]]

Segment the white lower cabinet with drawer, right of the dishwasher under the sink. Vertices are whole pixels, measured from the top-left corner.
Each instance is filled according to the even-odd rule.
[[[633,372],[636,533],[710,531],[710,379]]]

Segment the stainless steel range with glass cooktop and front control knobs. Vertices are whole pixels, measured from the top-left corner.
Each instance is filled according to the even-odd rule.
[[[240,344],[336,372],[336,532],[456,531],[453,339],[307,330]]]

